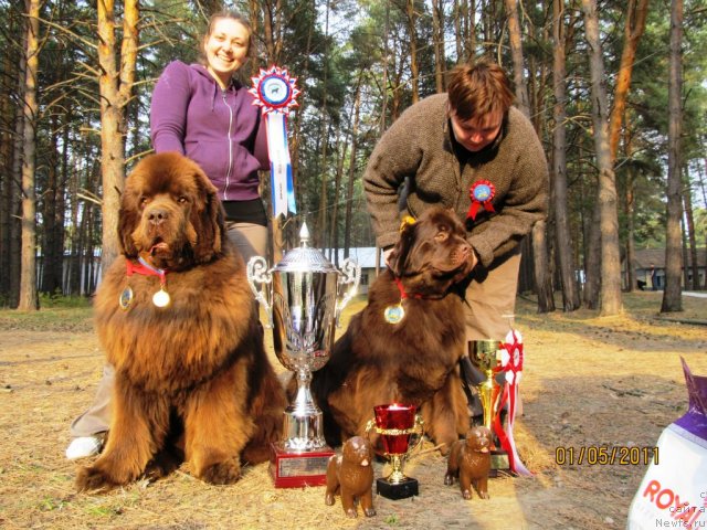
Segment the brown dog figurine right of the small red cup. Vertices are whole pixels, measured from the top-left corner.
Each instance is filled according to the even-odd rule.
[[[460,479],[462,497],[472,498],[472,484],[478,497],[488,499],[488,471],[490,470],[490,431],[474,427],[466,433],[466,439],[457,441],[450,452],[444,484],[451,486]]]

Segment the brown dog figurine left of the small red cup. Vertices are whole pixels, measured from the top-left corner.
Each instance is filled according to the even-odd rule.
[[[341,456],[334,455],[327,466],[327,492],[324,501],[334,505],[334,496],[341,495],[341,506],[347,517],[357,517],[356,500],[361,504],[366,517],[376,515],[373,508],[373,463],[368,439],[361,436],[349,438]]]

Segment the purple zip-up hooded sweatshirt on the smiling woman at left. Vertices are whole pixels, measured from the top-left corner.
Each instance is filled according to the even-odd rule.
[[[247,87],[234,81],[222,91],[204,66],[173,61],[152,92],[150,136],[157,152],[178,151],[197,162],[222,201],[260,197],[267,139]]]

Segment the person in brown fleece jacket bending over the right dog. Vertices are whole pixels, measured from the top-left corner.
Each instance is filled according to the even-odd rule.
[[[383,248],[398,240],[398,194],[405,178],[412,216],[443,204],[466,222],[477,262],[466,289],[469,341],[505,339],[515,308],[518,243],[547,215],[545,152],[511,103],[500,66],[484,60],[457,66],[446,94],[408,108],[386,131],[363,177]]]

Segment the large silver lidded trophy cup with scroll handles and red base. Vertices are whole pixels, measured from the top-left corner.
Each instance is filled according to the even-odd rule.
[[[288,251],[271,269],[261,256],[247,263],[247,280],[265,309],[266,327],[273,329],[277,359],[297,381],[297,394],[285,410],[283,439],[272,447],[271,474],[276,487],[326,484],[334,451],[324,439],[321,411],[309,383],[312,372],[329,360],[335,327],[361,276],[351,259],[345,259],[338,271],[310,248],[306,224],[299,237],[299,247]]]

